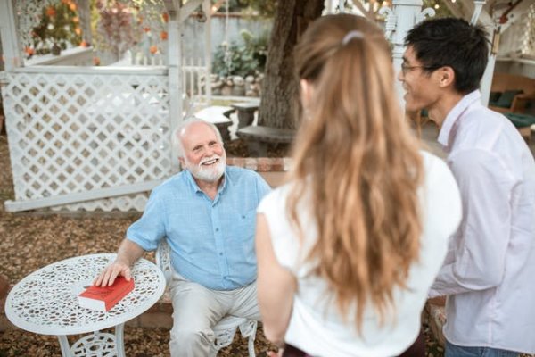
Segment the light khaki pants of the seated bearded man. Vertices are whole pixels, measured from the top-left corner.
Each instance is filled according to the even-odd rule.
[[[260,320],[256,282],[229,291],[210,290],[173,272],[171,357],[201,357],[213,353],[212,328],[226,315]]]

